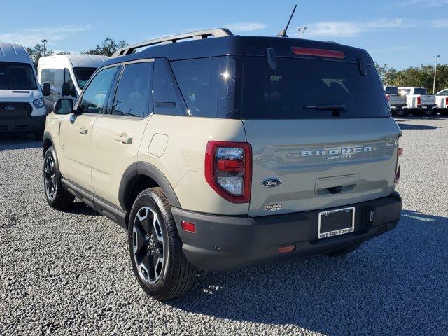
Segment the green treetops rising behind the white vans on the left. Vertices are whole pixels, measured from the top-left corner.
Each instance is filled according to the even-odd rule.
[[[114,38],[107,37],[102,41],[101,44],[97,44],[96,47],[90,50],[83,50],[81,54],[90,54],[90,55],[103,55],[103,56],[112,56],[116,50],[123,48],[127,45],[127,42],[124,40],[116,41]],[[27,52],[33,61],[34,67],[37,69],[37,64],[39,62],[39,58],[43,57],[43,44],[36,44],[33,48],[27,47]],[[51,55],[67,55],[70,52],[63,51],[55,53],[53,50],[46,48],[45,56]]]

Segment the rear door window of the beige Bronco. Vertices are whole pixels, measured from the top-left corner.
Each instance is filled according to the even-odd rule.
[[[153,107],[151,63],[125,65],[113,101],[112,114],[146,117]]]

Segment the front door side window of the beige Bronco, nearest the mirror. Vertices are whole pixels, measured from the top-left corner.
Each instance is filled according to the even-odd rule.
[[[118,66],[99,71],[86,87],[78,109],[83,113],[102,113]]]

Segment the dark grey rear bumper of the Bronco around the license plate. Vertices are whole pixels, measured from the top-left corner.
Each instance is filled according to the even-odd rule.
[[[173,208],[186,258],[201,269],[225,271],[248,265],[289,258],[319,255],[361,243],[395,228],[400,219],[402,200],[398,193],[344,207],[355,207],[355,230],[346,235],[318,239],[318,213],[297,212],[251,218],[214,216]],[[342,207],[338,207],[342,208]],[[370,212],[374,212],[370,221]],[[195,223],[196,232],[183,231],[181,221]],[[282,246],[295,245],[295,251],[278,253]]]

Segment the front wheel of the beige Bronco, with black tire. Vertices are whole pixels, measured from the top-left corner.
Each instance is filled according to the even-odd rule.
[[[56,153],[52,146],[43,157],[43,188],[48,204],[54,209],[68,209],[75,200],[75,197],[62,187]]]

